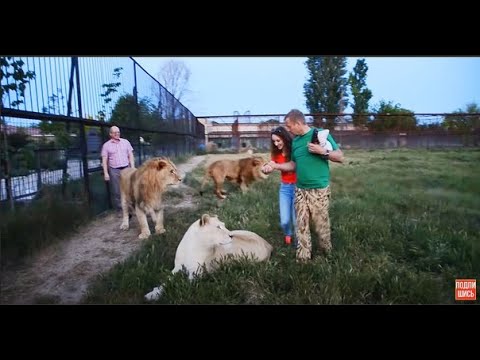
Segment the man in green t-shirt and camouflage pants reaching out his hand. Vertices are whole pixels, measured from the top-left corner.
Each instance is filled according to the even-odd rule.
[[[268,163],[264,172],[273,170],[296,171],[295,213],[297,219],[297,260],[312,257],[310,219],[315,224],[320,250],[328,253],[332,249],[330,240],[330,167],[328,161],[343,162],[343,152],[329,134],[327,140],[332,151],[320,144],[312,143],[314,129],[305,122],[300,110],[293,109],[285,116],[285,127],[296,135],[292,143],[291,161],[283,164]]]

